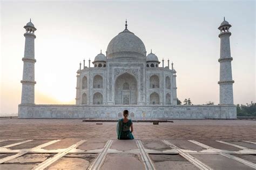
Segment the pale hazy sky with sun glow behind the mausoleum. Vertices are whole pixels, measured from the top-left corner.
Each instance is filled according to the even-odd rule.
[[[35,35],[35,103],[75,104],[79,62],[106,51],[125,28],[158,59],[174,63],[178,98],[219,103],[217,29],[225,16],[232,27],[234,104],[255,102],[255,1],[1,1],[0,115],[17,113],[25,29]],[[160,64],[161,65],[161,64]]]

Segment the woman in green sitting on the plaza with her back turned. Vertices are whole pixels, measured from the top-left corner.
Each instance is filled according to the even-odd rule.
[[[123,115],[124,118],[119,119],[117,123],[117,139],[134,139],[132,120],[128,119],[129,111],[124,110]]]

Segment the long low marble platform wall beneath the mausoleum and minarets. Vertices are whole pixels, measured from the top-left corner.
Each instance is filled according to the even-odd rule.
[[[235,105],[19,105],[19,118],[43,119],[118,119],[123,110],[129,110],[131,119],[236,119]]]

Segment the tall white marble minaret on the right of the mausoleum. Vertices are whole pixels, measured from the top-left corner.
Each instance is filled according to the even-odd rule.
[[[233,83],[231,61],[233,58],[230,53],[230,32],[231,25],[225,21],[220,24],[220,105],[233,105]]]

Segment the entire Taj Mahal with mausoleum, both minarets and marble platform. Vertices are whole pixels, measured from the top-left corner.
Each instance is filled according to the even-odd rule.
[[[24,26],[22,100],[19,118],[117,119],[130,111],[132,119],[235,119],[230,50],[231,25],[219,26],[219,105],[177,105],[176,70],[173,63],[147,53],[143,41],[127,28],[110,40],[105,54],[85,60],[77,70],[75,105],[35,104],[35,25]],[[71,89],[72,90],[72,89]],[[75,91],[74,91],[75,94]]]

